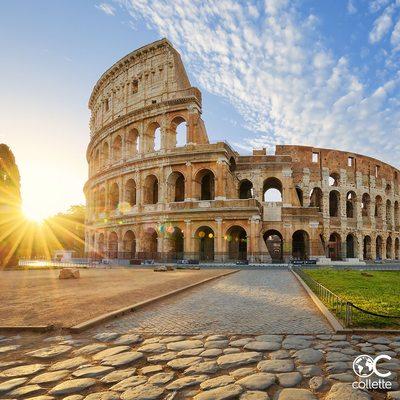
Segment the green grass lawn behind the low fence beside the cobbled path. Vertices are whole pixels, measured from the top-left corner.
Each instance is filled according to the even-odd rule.
[[[305,270],[313,279],[354,305],[377,314],[400,316],[400,271]],[[353,309],[354,310],[354,309]],[[355,311],[360,327],[400,328],[400,318],[369,316]]]

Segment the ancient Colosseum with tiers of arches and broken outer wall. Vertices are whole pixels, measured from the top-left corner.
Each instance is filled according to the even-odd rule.
[[[277,145],[274,155],[240,155],[226,142],[210,143],[201,92],[166,39],[108,69],[89,108],[91,256],[399,258],[399,170],[338,150]]]

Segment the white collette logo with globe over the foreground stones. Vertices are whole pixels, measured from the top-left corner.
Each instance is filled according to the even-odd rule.
[[[381,372],[378,369],[378,362],[380,360],[391,360],[392,358],[386,354],[371,357],[367,354],[358,356],[353,361],[353,371],[361,378],[360,382],[353,382],[354,389],[391,389],[392,382],[385,381],[383,378],[390,376],[391,372]],[[371,375],[375,374],[371,379]],[[377,379],[376,379],[377,377]]]

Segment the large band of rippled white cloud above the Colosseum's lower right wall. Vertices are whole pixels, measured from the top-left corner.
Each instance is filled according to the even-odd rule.
[[[399,74],[370,88],[345,54],[327,47],[318,18],[304,16],[296,2],[122,4],[175,44],[197,84],[235,106],[254,131],[242,148],[299,143],[399,164]]]

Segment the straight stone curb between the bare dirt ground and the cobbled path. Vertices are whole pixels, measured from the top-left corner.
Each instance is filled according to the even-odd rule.
[[[219,278],[223,278],[225,276],[231,275],[231,274],[235,274],[236,272],[239,272],[239,271],[240,271],[239,269],[236,269],[236,270],[233,270],[233,271],[225,272],[225,273],[223,273],[221,275],[212,276],[210,278],[203,279],[202,281],[199,281],[199,282],[196,282],[196,283],[192,283],[192,284],[184,286],[182,288],[173,290],[172,292],[168,292],[168,293],[163,294],[161,296],[153,297],[151,299],[142,301],[140,303],[135,303],[135,304],[132,304],[130,306],[127,306],[127,307],[124,307],[124,308],[120,308],[119,310],[116,310],[116,311],[111,311],[109,313],[100,315],[99,317],[95,317],[95,318],[89,319],[89,320],[87,320],[85,322],[82,322],[80,324],[77,324],[75,326],[72,326],[72,327],[69,327],[69,328],[65,328],[65,329],[67,329],[71,333],[80,333],[80,332],[82,332],[82,331],[84,331],[86,329],[92,328],[95,325],[98,325],[98,324],[100,324],[102,322],[105,322],[105,321],[107,321],[109,319],[120,317],[121,315],[127,314],[128,312],[132,312],[132,311],[138,310],[138,309],[140,309],[140,308],[142,308],[144,306],[147,306],[149,304],[155,303],[155,302],[157,302],[159,300],[164,300],[164,299],[166,299],[168,297],[171,297],[171,296],[173,296],[175,294],[184,292],[185,290],[192,289],[192,288],[194,288],[196,286],[199,286],[199,285],[202,285],[204,283],[213,281],[215,279],[219,279]]]

